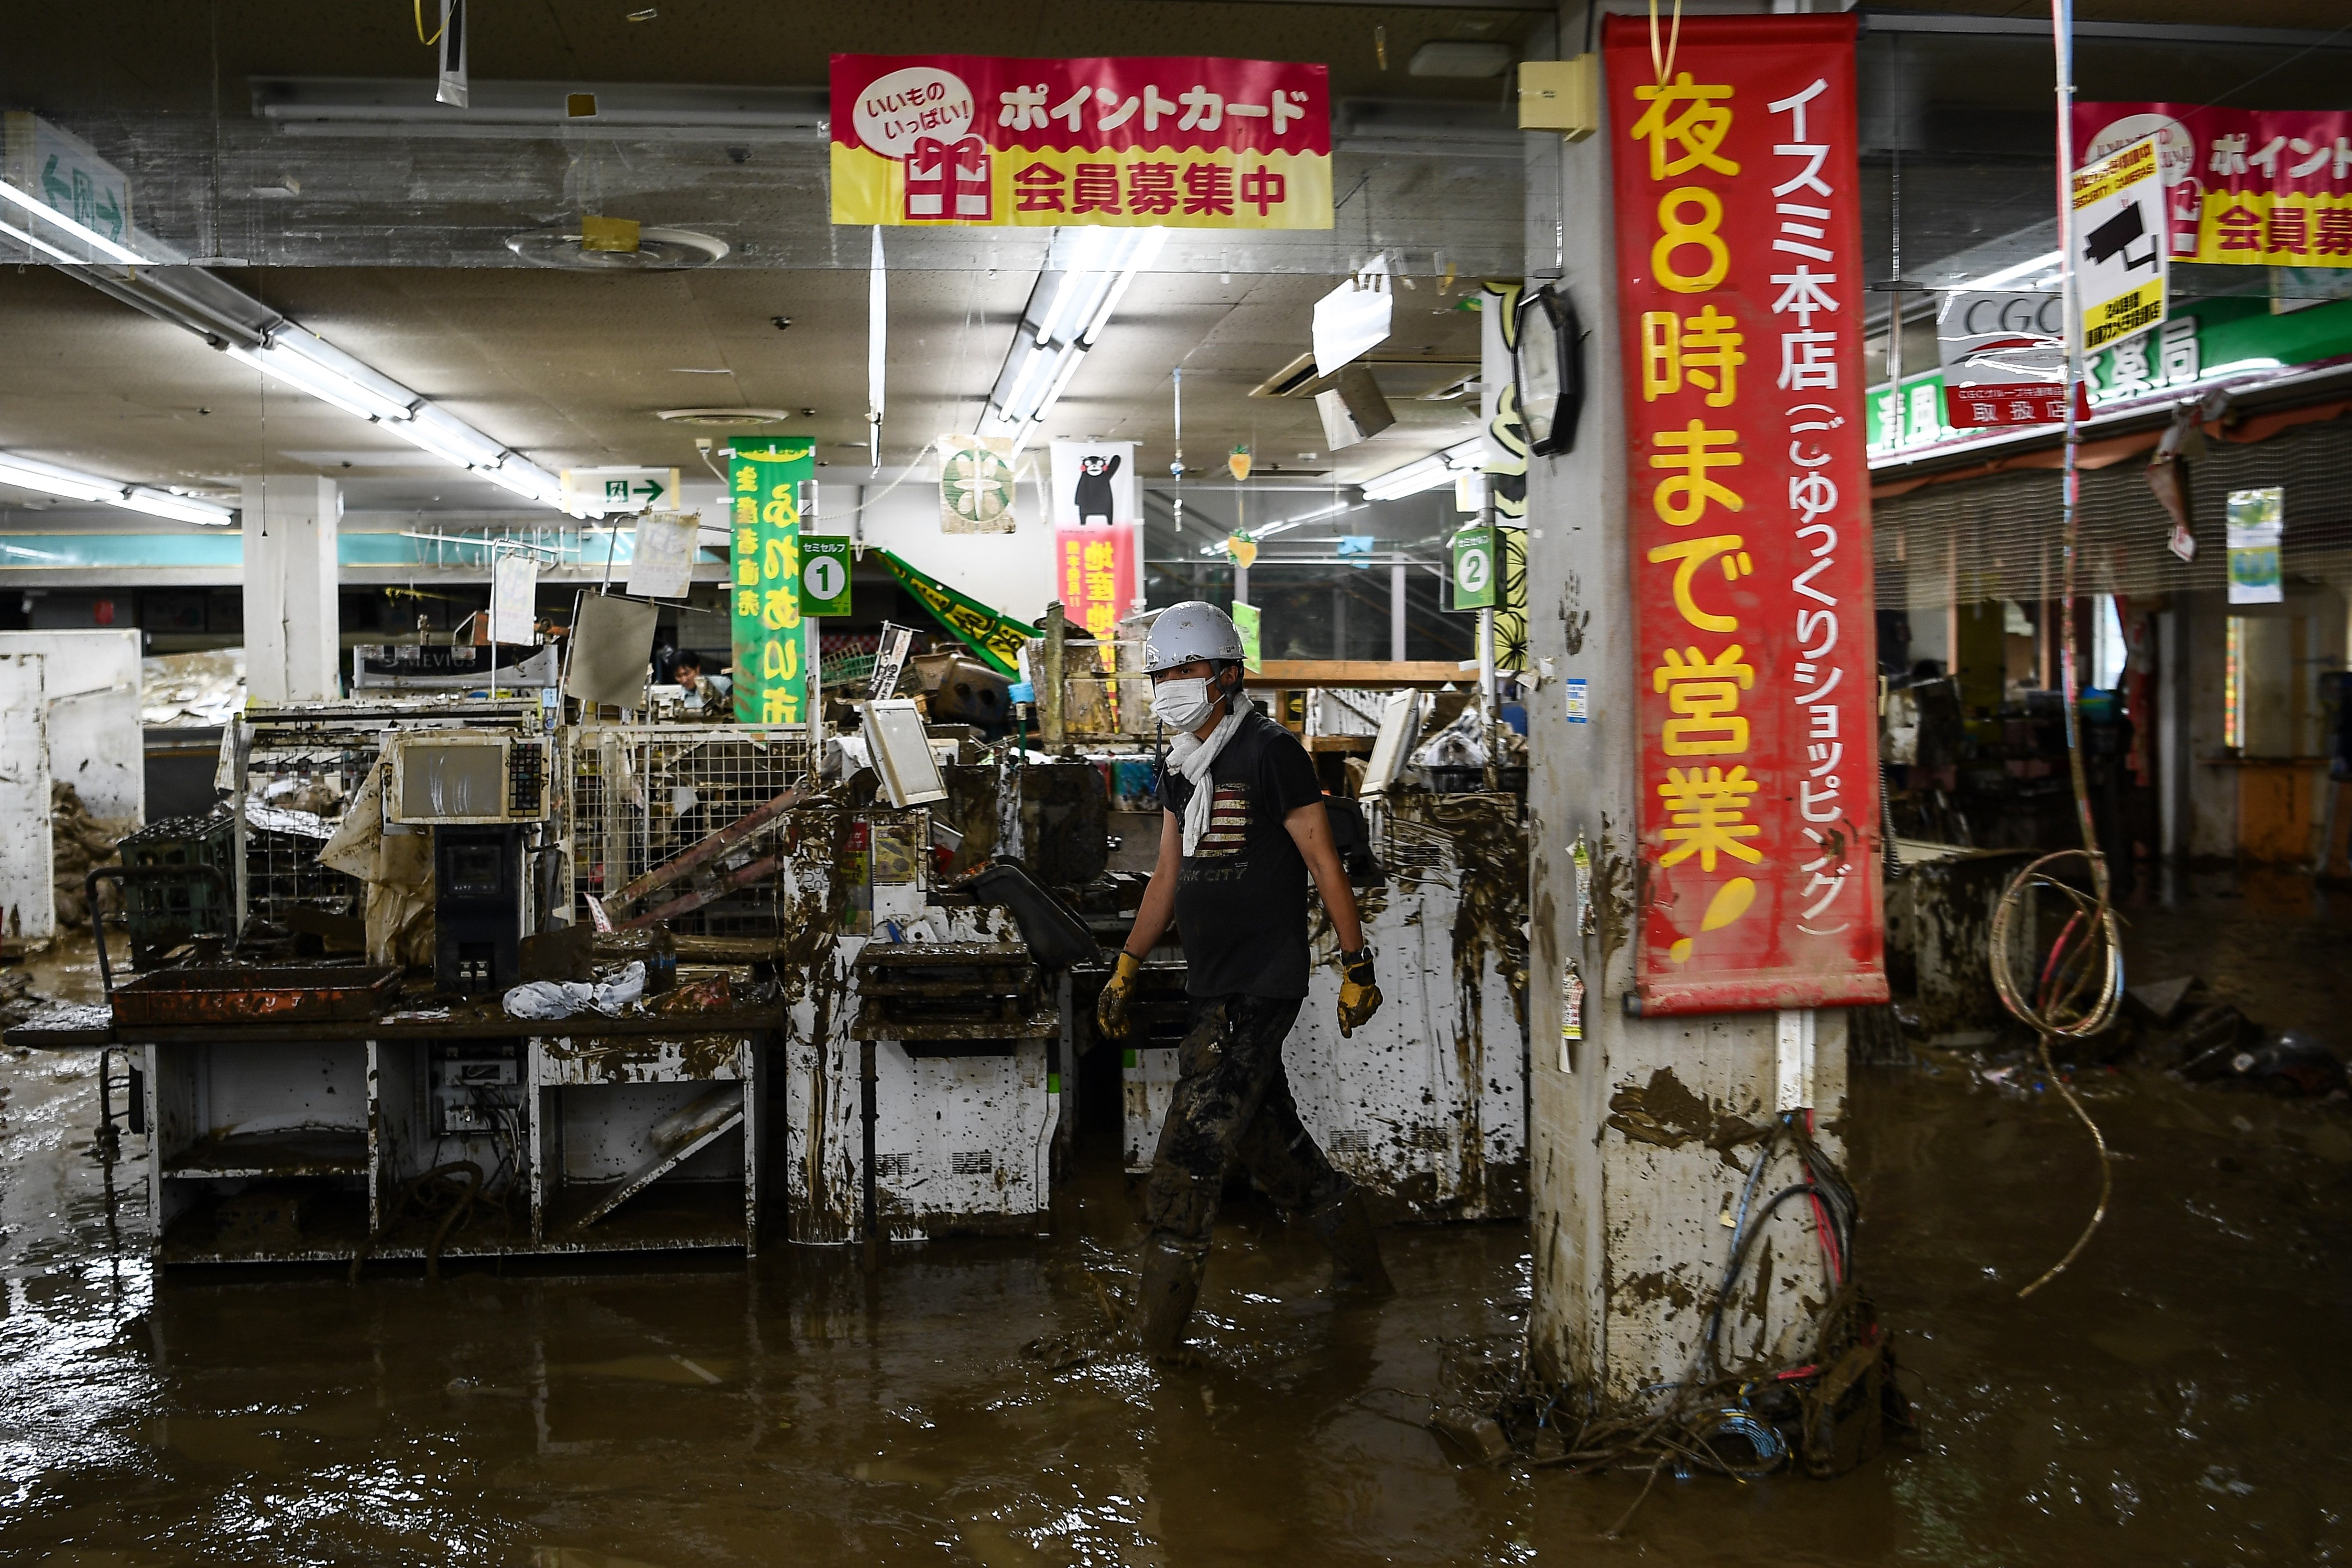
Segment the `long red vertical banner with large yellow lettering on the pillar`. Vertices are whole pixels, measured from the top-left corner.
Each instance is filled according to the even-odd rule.
[[[1609,16],[1644,1013],[1886,1001],[1851,14]]]

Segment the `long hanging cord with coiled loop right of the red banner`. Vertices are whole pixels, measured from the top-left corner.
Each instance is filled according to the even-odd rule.
[[[2065,489],[2060,491],[2063,505],[2063,571],[2065,581],[2060,588],[2060,614],[2065,618],[2065,635],[2058,654],[2058,684],[2060,698],[2065,701],[2065,752],[2067,752],[2067,778],[2074,785],[2074,820],[2082,827],[2082,849],[2060,849],[2056,853],[2042,856],[2009,884],[2002,893],[1999,907],[1992,912],[1992,987],[2002,994],[2002,1006],[2039,1034],[2042,1074],[2058,1086],[2065,1095],[2067,1107],[2082,1119],[2091,1131],[2091,1145],[2098,1150],[2098,1206],[2091,1211],[2091,1222],[2082,1227],[2074,1237],[2074,1246],[2067,1248],[2065,1258],[2053,1262],[2042,1272],[2030,1286],[2018,1291],[2018,1300],[2025,1300],[2049,1281],[2058,1279],[2082,1248],[2091,1244],[2091,1234],[2098,1229],[2100,1220],[2107,1218],[2107,1199],[2114,1194],[2114,1173],[2107,1166],[2107,1138],[2091,1121],[2091,1112],[2082,1107],[2072,1084],[2058,1077],[2058,1067],[2051,1063],[2053,1039],[2089,1039],[2105,1030],[2114,1020],[2114,1009],[2124,999],[2124,943],[2114,919],[2114,905],[2110,903],[2107,884],[2107,858],[2098,849],[2098,823],[2091,816],[2091,783],[2082,762],[2082,712],[2077,708],[2077,663],[2074,663],[2074,574],[2082,562],[2082,428],[2074,421],[2074,397],[2082,386],[2082,320],[2077,313],[2077,282],[2074,282],[2074,0],[2051,0],[2051,33],[2053,54],[2058,61],[2058,244],[2060,244],[2060,277],[2065,296]],[[2049,867],[2060,860],[2082,858],[2091,872],[2091,891],[2082,891],[2072,884],[2058,882]],[[2018,924],[2020,914],[2032,917],[2032,900],[2037,889],[2053,889],[2060,898],[2074,905],[2065,926],[2058,931],[2058,940],[2051,943],[2049,957],[2042,964],[2042,976],[2034,985],[2034,997],[2027,1004],[2023,987],[2011,973],[2013,943],[2011,929]]]

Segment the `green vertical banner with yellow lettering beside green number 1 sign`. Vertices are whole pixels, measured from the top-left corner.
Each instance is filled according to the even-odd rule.
[[[800,616],[800,484],[816,477],[816,447],[771,435],[739,435],[731,444],[736,722],[800,724],[814,663]]]

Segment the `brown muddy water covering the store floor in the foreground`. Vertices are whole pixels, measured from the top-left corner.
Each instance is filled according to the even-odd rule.
[[[2352,903],[2352,900],[2345,900]],[[2352,919],[2307,884],[2131,912],[2140,976],[2352,1044]],[[71,961],[68,961],[71,969]],[[80,983],[49,971],[54,992]],[[2340,1563],[2352,1556],[2352,1114],[2086,1077],[2114,1213],[2032,1074],[1858,1070],[1858,1262],[1922,1441],[1832,1483],[1468,1469],[1439,1363],[1508,1349],[1524,1229],[1385,1232],[1334,1307],[1315,1244],[1218,1227],[1202,1366],[1021,1352],[1098,1321],[1134,1206],[1040,1244],[776,1248],[753,1267],[437,1284],[151,1272],[141,1143],[94,1056],[0,1056],[0,1561],[24,1563]]]

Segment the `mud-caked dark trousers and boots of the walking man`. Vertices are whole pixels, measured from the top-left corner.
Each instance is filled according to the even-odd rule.
[[[1331,1248],[1338,1284],[1388,1291],[1355,1182],[1331,1168],[1298,1121],[1282,1072],[1282,1039],[1296,1018],[1296,999],[1221,997],[1202,1006],[1176,1051],[1176,1095],[1143,1190],[1143,1349],[1152,1354],[1183,1340],[1209,1267],[1216,1199],[1235,1161]]]

